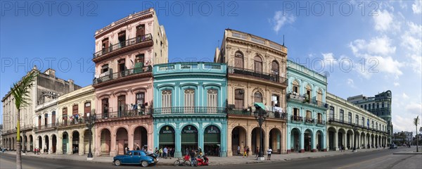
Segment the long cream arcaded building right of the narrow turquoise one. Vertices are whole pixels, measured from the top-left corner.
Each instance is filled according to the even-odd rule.
[[[387,122],[345,99],[327,93],[327,149],[385,147],[388,140]]]

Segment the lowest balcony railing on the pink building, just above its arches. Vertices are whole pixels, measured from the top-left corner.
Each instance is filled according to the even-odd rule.
[[[97,120],[108,120],[116,118],[132,118],[132,117],[141,117],[144,115],[151,115],[151,108],[141,108],[140,110],[124,110],[124,111],[113,111],[113,112],[103,112],[96,114]]]

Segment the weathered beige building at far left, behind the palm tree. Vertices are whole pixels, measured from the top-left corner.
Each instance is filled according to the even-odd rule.
[[[23,147],[27,147],[27,150],[32,151],[34,148],[32,142],[34,142],[34,131],[33,127],[39,124],[40,120],[51,120],[51,116],[39,117],[36,114],[36,109],[40,105],[50,103],[57,99],[60,95],[73,92],[80,89],[73,80],[63,80],[56,77],[56,70],[51,68],[41,73],[37,69],[37,66],[31,70],[31,72],[37,72],[37,79],[34,80],[32,87],[29,91],[30,106],[22,108],[20,110],[20,137]],[[25,75],[26,76],[26,75]],[[16,139],[16,122],[18,121],[16,114],[17,109],[14,103],[14,97],[9,91],[6,96],[1,99],[3,102],[3,133],[2,140],[4,146],[7,149],[15,149]],[[32,148],[31,148],[32,147]]]

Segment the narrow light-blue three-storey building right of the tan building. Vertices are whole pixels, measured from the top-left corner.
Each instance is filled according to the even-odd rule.
[[[287,152],[326,151],[326,77],[293,61],[287,73]]]

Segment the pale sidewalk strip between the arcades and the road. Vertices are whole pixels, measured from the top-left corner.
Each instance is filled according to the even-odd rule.
[[[412,147],[413,148],[413,147]],[[416,147],[414,147],[416,151]],[[365,151],[388,151],[388,149],[357,149],[357,153]],[[404,150],[407,151],[407,150]],[[5,151],[5,154],[16,154],[15,151]],[[210,160],[210,165],[229,165],[229,164],[244,164],[244,163],[269,163],[274,161],[294,161],[307,158],[319,158],[325,156],[338,156],[343,154],[352,154],[352,150],[346,150],[345,152],[340,151],[319,151],[319,152],[305,152],[305,153],[291,153],[291,154],[272,154],[271,161],[267,160],[267,155],[265,155],[264,161],[257,161],[255,155],[249,156],[248,158],[243,158],[242,156],[231,156],[231,157],[215,157],[208,156]],[[35,155],[33,152],[28,152],[22,156],[34,156],[39,158],[52,158],[52,159],[66,159],[71,161],[87,161],[87,155],[79,156],[77,154],[66,155],[66,154],[40,154]],[[158,158],[157,165],[173,165],[174,161],[177,158],[165,159]],[[91,163],[112,163],[113,157],[109,156],[94,156],[94,159],[90,161]]]

